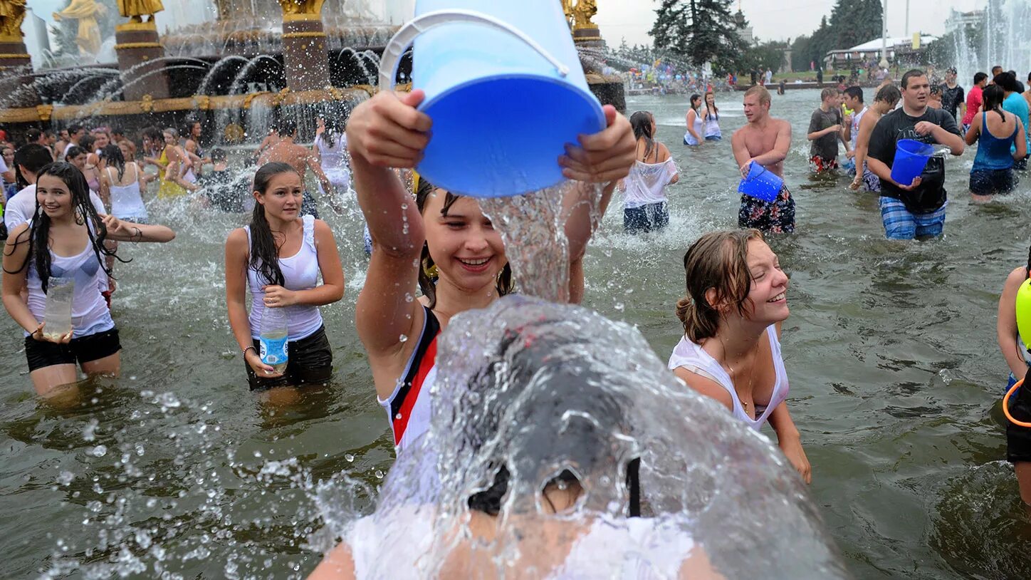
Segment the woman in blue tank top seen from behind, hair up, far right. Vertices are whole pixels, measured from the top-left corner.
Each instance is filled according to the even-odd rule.
[[[1009,193],[1017,187],[1013,162],[1024,159],[1027,130],[1020,118],[1002,109],[1005,91],[989,85],[984,91],[985,106],[975,115],[964,138],[967,144],[977,143],[977,155],[970,168],[970,197],[973,201],[991,201],[996,193]],[[996,114],[996,115],[992,115]]]

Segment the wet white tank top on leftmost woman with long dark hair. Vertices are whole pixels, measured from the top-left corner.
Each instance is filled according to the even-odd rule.
[[[42,322],[46,314],[46,294],[43,294],[42,281],[39,280],[35,262],[35,259],[29,261],[29,312]],[[72,339],[114,328],[111,311],[100,293],[101,289],[107,289],[107,272],[101,267],[92,243],[87,244],[86,250],[76,256],[64,257],[51,252],[51,278],[75,279],[71,299]],[[26,332],[25,335],[28,336],[29,333]]]

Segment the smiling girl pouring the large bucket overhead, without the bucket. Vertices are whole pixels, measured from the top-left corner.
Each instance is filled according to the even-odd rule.
[[[422,90],[401,98],[383,91],[358,105],[347,123],[355,190],[372,237],[356,324],[399,452],[428,428],[439,332],[456,314],[484,308],[513,286],[501,234],[475,198],[420,180],[413,200],[391,169],[413,168],[423,157],[432,126],[415,108],[424,98]],[[567,179],[608,184],[601,212],[616,181],[629,172],[635,149],[626,118],[611,106],[604,117],[606,129],[581,136],[579,147],[559,158]],[[574,301],[583,293],[576,262],[595,225],[590,210],[576,204],[566,222]]]

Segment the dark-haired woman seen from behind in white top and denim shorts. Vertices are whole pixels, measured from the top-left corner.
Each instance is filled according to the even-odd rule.
[[[666,186],[680,179],[669,149],[655,140],[655,117],[646,110],[630,116],[637,139],[637,158],[630,174],[620,182],[623,228],[627,233],[660,230],[669,224]]]

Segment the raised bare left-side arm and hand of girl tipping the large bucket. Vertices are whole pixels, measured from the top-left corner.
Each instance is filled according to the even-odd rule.
[[[425,96],[423,91],[401,98],[380,92],[358,105],[347,123],[355,191],[372,236],[355,312],[370,359],[401,352],[423,323],[422,307],[413,299],[426,240],[423,217],[391,167],[414,167],[429,142],[430,118],[415,109]],[[377,381],[377,391],[388,396],[393,386],[381,383],[387,381]]]

